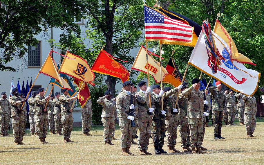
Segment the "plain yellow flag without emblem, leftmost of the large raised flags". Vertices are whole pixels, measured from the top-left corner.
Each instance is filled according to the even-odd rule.
[[[54,62],[51,55],[48,54],[48,57],[46,58],[44,64],[39,70],[39,73],[42,73],[46,76],[50,76],[51,78],[54,78],[62,85],[62,87],[72,90],[70,85],[62,77],[59,76],[58,68],[56,66],[57,64]]]

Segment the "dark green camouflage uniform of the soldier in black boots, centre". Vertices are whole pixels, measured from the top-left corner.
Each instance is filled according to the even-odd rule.
[[[161,114],[162,106],[161,106],[161,96],[156,96],[151,93],[154,103],[155,103],[155,110],[154,116],[152,118],[152,139],[153,139],[153,146],[154,147],[162,147],[164,145],[164,138],[166,137],[166,125],[165,125],[165,115]],[[164,103],[163,103],[164,104]],[[166,112],[167,109],[165,108],[164,111]],[[167,113],[167,112],[166,112]]]

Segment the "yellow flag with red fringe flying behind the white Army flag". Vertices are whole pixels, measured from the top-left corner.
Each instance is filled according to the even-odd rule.
[[[245,55],[238,53],[237,48],[236,48],[236,44],[232,40],[232,38],[229,35],[229,33],[227,32],[227,30],[220,24],[220,22],[218,20],[216,20],[213,31],[220,38],[222,38],[225,41],[225,43],[229,46],[230,50],[228,50],[228,51],[231,52],[231,54],[232,54],[231,60],[235,60],[235,61],[241,62],[243,64],[247,63],[247,64],[256,65],[251,60],[249,60],[249,58],[247,58]]]

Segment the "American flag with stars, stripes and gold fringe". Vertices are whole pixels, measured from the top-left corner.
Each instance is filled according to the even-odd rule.
[[[147,6],[144,6],[144,17],[147,41],[163,40],[167,44],[192,41],[193,27],[187,23],[166,17]]]

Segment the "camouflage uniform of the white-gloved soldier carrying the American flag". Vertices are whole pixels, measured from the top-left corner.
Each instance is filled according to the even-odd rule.
[[[142,91],[137,92],[135,94],[135,97],[138,101],[138,130],[139,130],[139,135],[138,135],[138,149],[139,150],[147,150],[149,146],[149,138],[151,134],[151,129],[152,129],[152,117],[153,113],[148,113],[149,112],[149,92],[143,93]],[[150,96],[150,101],[151,101],[151,107],[154,108],[155,110],[155,103]],[[136,129],[136,127],[134,128]]]

